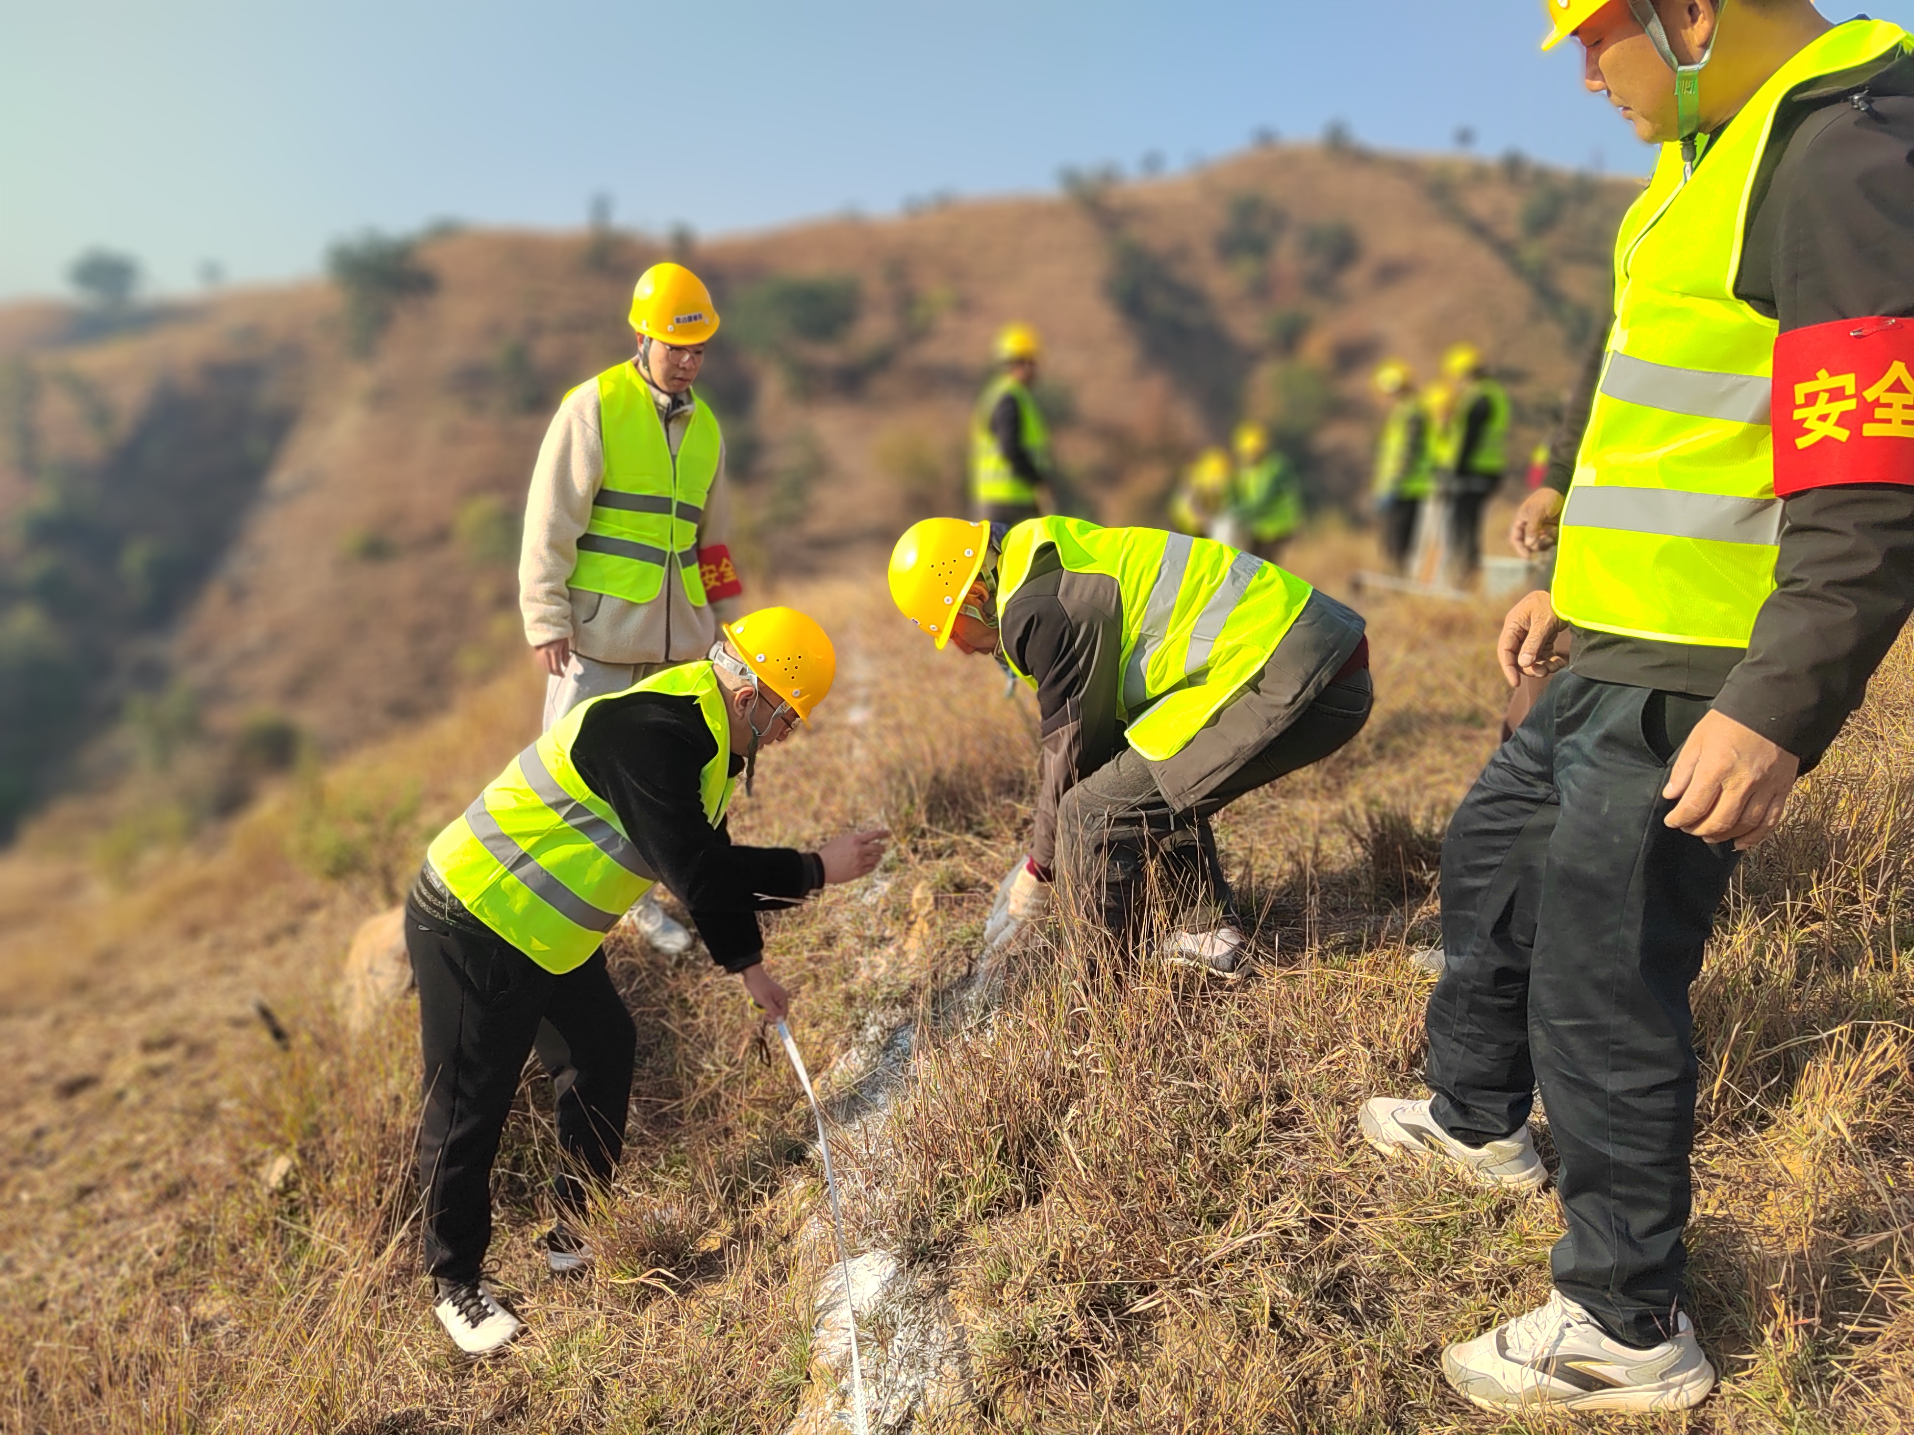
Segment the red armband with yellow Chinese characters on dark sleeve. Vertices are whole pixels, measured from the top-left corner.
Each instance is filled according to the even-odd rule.
[[[1914,484],[1914,320],[1836,320],[1774,341],[1774,492]]]

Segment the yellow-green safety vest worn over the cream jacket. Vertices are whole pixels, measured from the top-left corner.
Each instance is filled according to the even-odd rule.
[[[674,457],[651,386],[635,364],[605,369],[597,386],[605,478],[591,499],[591,522],[578,536],[570,585],[651,603],[676,559],[685,597],[702,608],[699,520],[718,476],[718,419],[697,400]]]

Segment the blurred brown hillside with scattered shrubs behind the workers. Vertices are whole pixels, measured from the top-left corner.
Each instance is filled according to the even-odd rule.
[[[1629,184],[1522,163],[1267,147],[1060,197],[840,218],[678,253],[727,316],[706,364],[745,492],[746,580],[869,566],[961,503],[995,327],[1049,341],[1085,503],[1154,519],[1194,446],[1271,419],[1321,501],[1361,488],[1365,381],[1480,342],[1543,434],[1604,304]],[[616,233],[440,233],[436,289],[366,356],[329,285],[107,329],[0,308],[0,832],[122,848],[235,809],[320,752],[444,710],[519,649],[511,545],[557,396],[626,356]],[[103,331],[107,329],[107,331]],[[115,727],[113,740],[100,733]],[[84,762],[80,762],[84,758]]]

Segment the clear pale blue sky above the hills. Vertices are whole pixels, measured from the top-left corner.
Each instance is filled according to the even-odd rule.
[[[1845,11],[1830,11],[1845,17]],[[1914,0],[1878,0],[1914,23]],[[1646,168],[1537,0],[0,0],[0,297],[312,274],[362,228],[701,233],[1169,168],[1259,126]]]

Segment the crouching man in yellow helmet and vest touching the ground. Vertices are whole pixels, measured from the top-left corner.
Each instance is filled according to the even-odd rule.
[[[1043,913],[1055,871],[1137,941],[1154,861],[1181,907],[1162,955],[1236,976],[1210,819],[1363,729],[1363,618],[1223,543],[1076,519],[926,519],[890,555],[890,595],[940,649],[995,652],[1037,691],[1035,830],[991,936]]]

